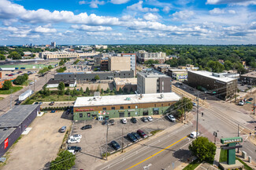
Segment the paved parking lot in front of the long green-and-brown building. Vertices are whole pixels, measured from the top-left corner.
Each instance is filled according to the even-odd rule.
[[[109,145],[112,140],[117,141],[120,146],[123,140],[124,148],[126,146],[131,146],[132,142],[126,137],[130,132],[136,132],[138,129],[141,129],[149,135],[150,132],[154,130],[164,130],[165,128],[169,128],[176,124],[165,118],[160,118],[160,116],[158,116],[158,118],[154,117],[153,121],[148,122],[143,122],[140,118],[136,119],[137,123],[135,124],[131,122],[131,118],[128,118],[127,124],[122,124],[120,121],[121,119],[118,118],[115,119],[115,125],[109,125],[107,152],[115,152],[113,147]],[[92,128],[81,130],[80,128],[82,128],[83,125],[92,125]],[[76,168],[92,169],[91,166],[97,165],[97,161],[102,160],[102,153],[106,152],[106,132],[107,125],[102,125],[102,121],[91,120],[75,122],[72,135],[80,134],[83,136],[80,143],[69,145],[80,146],[82,149],[80,153],[76,153]],[[122,135],[124,137],[122,137]],[[135,144],[139,143],[140,142],[136,142]],[[91,165],[85,165],[83,164],[85,161],[90,161],[92,163]]]

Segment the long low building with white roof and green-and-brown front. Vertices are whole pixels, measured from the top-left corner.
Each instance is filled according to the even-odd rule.
[[[73,120],[128,118],[165,114],[180,99],[174,92],[165,94],[77,97]]]

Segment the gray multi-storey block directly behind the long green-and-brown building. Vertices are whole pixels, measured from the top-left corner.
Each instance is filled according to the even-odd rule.
[[[137,91],[140,94],[172,92],[172,78],[153,69],[137,74]]]

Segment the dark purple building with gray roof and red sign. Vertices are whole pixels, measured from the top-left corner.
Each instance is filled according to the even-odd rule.
[[[13,107],[0,117],[0,157],[15,143],[28,125],[39,113],[40,105],[20,105]]]

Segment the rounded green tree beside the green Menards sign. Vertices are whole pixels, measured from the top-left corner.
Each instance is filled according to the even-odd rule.
[[[189,146],[188,149],[199,161],[213,161],[216,153],[216,146],[206,137],[198,137]]]

